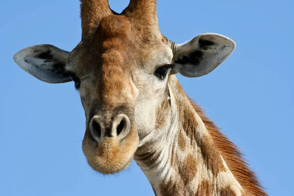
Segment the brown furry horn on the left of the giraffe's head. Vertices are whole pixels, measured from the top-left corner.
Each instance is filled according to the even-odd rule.
[[[101,18],[113,13],[108,0],[80,0],[82,21],[82,37],[90,33],[98,25]]]

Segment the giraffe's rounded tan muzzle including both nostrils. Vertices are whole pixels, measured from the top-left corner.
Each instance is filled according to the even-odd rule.
[[[136,125],[127,115],[119,114],[114,118],[96,115],[86,130],[83,152],[94,170],[116,173],[129,166],[138,144]]]

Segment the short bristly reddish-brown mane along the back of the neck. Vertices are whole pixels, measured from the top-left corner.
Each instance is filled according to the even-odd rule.
[[[199,105],[191,98],[189,98],[189,100],[196,113],[205,124],[230,171],[239,181],[245,193],[252,196],[267,196],[263,191],[262,185],[257,180],[255,173],[249,169],[244,161],[243,154],[238,147],[221,133],[219,127],[205,115],[203,109]]]

